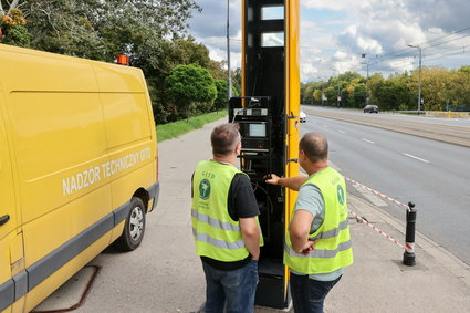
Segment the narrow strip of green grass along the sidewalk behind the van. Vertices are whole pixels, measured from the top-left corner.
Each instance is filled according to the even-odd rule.
[[[227,111],[218,111],[199,116],[189,117],[174,123],[157,126],[157,142],[178,137],[194,129],[202,128],[203,125],[227,116]]]

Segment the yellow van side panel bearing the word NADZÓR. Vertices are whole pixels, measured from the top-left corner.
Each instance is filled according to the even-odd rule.
[[[7,109],[24,222],[105,184],[107,143],[97,94],[15,92]]]

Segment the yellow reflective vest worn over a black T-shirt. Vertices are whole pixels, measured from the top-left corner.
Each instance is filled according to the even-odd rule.
[[[234,262],[246,259],[249,254],[240,222],[232,220],[228,211],[230,184],[239,173],[244,174],[232,165],[215,160],[200,161],[196,167],[192,178],[191,219],[198,255]]]

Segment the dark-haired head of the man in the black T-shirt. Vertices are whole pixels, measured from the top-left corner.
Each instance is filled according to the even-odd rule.
[[[236,123],[226,123],[213,128],[210,135],[212,154],[215,156],[228,156],[233,153],[240,143],[240,126]]]

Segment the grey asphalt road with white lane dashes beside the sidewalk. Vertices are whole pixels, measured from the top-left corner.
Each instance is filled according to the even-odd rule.
[[[344,176],[415,202],[417,229],[470,264],[470,148],[306,113],[301,132],[326,135],[330,159]],[[404,207],[383,206],[405,220]]]

